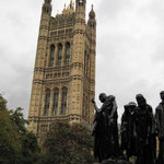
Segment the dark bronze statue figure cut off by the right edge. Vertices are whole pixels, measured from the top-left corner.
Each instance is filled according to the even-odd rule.
[[[155,109],[157,137],[160,140],[160,153],[157,164],[164,164],[164,91],[160,93],[162,102]]]

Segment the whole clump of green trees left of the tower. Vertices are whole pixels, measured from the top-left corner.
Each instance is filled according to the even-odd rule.
[[[22,110],[8,110],[0,94],[0,164],[34,164],[38,159],[37,138],[26,130]]]

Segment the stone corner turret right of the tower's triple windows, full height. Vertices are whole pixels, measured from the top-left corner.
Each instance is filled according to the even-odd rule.
[[[79,97],[83,97],[83,68],[85,51],[85,7],[86,0],[75,0],[75,17],[73,26],[73,48],[72,48],[72,68],[70,85],[70,115],[73,117],[71,122],[81,121],[83,103]],[[79,89],[77,89],[79,86]],[[77,102],[77,103],[75,103]]]

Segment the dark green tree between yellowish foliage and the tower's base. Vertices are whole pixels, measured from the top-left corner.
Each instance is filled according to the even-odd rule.
[[[37,138],[33,132],[27,131],[26,125],[28,121],[24,119],[23,108],[17,107],[15,110],[10,110],[10,117],[14,128],[20,134],[21,149],[17,163],[34,164],[37,161],[39,148]]]

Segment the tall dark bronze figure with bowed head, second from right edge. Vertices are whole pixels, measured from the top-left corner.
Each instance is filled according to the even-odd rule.
[[[155,164],[155,119],[152,107],[147,104],[142,94],[138,94],[136,98],[138,103],[134,112],[137,164]]]

